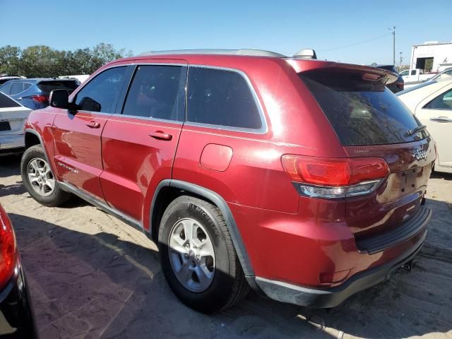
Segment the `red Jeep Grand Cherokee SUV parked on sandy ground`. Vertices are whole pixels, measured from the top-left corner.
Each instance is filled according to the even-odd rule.
[[[426,236],[434,141],[388,71],[240,49],[106,64],[30,114],[23,184],[71,194],[158,243],[185,304],[249,288],[334,307],[389,278]]]

